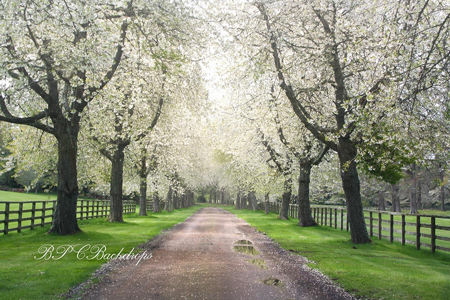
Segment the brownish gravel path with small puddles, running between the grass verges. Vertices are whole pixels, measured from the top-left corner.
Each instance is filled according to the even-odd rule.
[[[243,244],[247,240],[251,244]],[[234,246],[246,252],[233,250]],[[83,299],[354,299],[270,238],[218,207],[143,245],[152,258],[112,262]],[[265,281],[265,282],[264,282]]]

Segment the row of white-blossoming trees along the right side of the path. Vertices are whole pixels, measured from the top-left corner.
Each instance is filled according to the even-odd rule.
[[[393,198],[399,180],[409,178],[411,212],[416,212],[421,194],[417,169],[432,161],[439,165],[435,182],[443,199],[447,3],[275,0],[227,5],[235,6],[223,10],[221,19],[232,24],[226,28],[236,64],[232,76],[239,77],[237,83],[230,79],[234,101],[228,113],[243,119],[241,130],[252,131],[239,135],[240,147],[225,151],[233,155],[230,167],[238,165],[242,173],[237,186],[248,182],[262,195],[272,189],[263,187],[263,178],[278,176],[283,182],[280,217],[285,217],[293,177],[298,178],[300,224],[312,224],[304,221],[310,219],[311,168],[335,153],[355,243],[369,241],[358,168],[392,184]],[[248,148],[259,157],[248,155]],[[268,168],[255,179],[254,168],[264,169],[264,162]],[[398,209],[398,200],[394,203]]]

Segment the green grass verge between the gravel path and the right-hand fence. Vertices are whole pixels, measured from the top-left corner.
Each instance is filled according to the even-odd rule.
[[[384,240],[354,245],[350,234],[325,226],[301,228],[276,214],[223,207],[291,251],[346,290],[369,299],[445,300],[450,296],[450,254],[416,250]],[[355,248],[353,248],[355,246]]]

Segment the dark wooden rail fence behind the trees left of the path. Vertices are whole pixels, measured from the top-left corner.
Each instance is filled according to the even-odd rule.
[[[51,224],[56,200],[48,201],[0,201],[0,233],[20,232],[36,226]],[[123,201],[123,213],[136,212],[134,201]],[[109,200],[79,199],[76,218],[88,219],[109,215]]]

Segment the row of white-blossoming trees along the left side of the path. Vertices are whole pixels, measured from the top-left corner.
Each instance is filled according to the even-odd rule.
[[[0,121],[17,124],[2,123],[15,154],[8,162],[18,169],[30,162],[42,175],[57,171],[49,232],[79,231],[80,169],[83,185],[109,179],[104,185],[110,221],[123,220],[126,164],[139,174],[145,207],[147,175],[157,165],[167,166],[159,174],[182,168],[180,161],[168,163],[179,153],[157,154],[175,151],[179,139],[190,146],[195,134],[176,130],[201,117],[205,107],[199,66],[192,60],[194,41],[201,39],[194,8],[176,0],[0,5]],[[155,192],[168,181],[152,178]],[[192,196],[184,193],[187,205]]]

